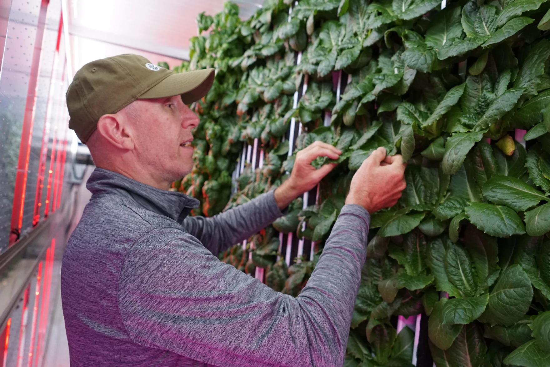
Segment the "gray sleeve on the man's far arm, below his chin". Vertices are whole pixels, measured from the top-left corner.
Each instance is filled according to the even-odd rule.
[[[282,215],[273,191],[269,191],[210,218],[186,217],[182,226],[217,256],[220,251],[249,238]]]

